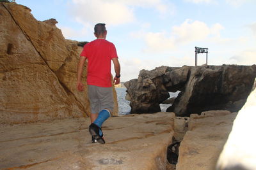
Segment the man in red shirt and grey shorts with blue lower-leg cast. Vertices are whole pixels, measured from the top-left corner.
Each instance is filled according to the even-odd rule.
[[[92,143],[104,144],[101,126],[105,120],[111,117],[113,111],[113,88],[111,82],[111,60],[115,66],[116,76],[113,82],[120,83],[120,64],[115,45],[106,40],[107,31],[105,24],[96,24],[94,35],[97,39],[84,45],[79,64],[77,66],[77,90],[83,91],[84,85],[81,81],[83,66],[88,59],[87,84],[88,98],[91,106]]]

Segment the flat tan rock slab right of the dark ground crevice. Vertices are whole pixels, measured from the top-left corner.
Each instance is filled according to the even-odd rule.
[[[186,132],[179,147],[177,170],[212,170],[227,141],[236,113],[191,119],[193,129]]]

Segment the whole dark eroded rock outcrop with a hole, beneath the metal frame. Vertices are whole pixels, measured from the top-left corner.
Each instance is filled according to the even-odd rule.
[[[159,104],[168,92],[180,91],[167,111],[189,116],[207,110],[241,109],[250,94],[256,66],[196,66],[166,67],[152,71],[141,70],[138,79],[125,83],[126,99],[131,101],[132,113],[160,111]]]

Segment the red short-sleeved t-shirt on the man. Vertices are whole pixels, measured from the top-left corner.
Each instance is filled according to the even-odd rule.
[[[118,58],[115,45],[106,39],[95,39],[84,45],[80,56],[88,59],[87,84],[111,87],[111,59]]]

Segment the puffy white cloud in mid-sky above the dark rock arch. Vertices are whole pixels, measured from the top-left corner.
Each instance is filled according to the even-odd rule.
[[[195,41],[206,41],[206,39],[218,38],[221,41],[220,31],[224,29],[221,24],[209,27],[198,20],[185,20],[181,25],[172,27],[170,33],[161,32],[133,32],[135,38],[143,38],[147,48],[145,52],[163,52],[164,50],[175,50],[177,46],[187,45]]]

